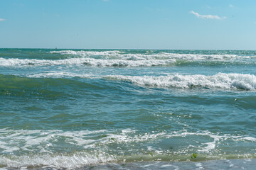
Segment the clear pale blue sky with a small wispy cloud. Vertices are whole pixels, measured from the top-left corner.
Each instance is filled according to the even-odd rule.
[[[0,0],[0,48],[256,50],[255,0]]]

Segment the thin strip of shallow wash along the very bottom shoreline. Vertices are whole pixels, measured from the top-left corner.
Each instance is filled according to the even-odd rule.
[[[57,166],[0,166],[0,169],[255,169],[256,159],[219,159],[201,162],[128,162],[78,165],[74,167]]]

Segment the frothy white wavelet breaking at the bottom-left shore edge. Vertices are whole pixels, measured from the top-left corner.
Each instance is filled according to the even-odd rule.
[[[23,156],[0,156],[1,165],[21,168],[23,166],[46,166],[55,169],[75,169],[85,165],[112,162],[115,158],[105,152],[94,154],[76,153],[72,155],[37,154]]]

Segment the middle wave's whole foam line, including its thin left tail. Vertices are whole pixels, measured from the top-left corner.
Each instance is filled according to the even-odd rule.
[[[138,86],[176,89],[223,89],[223,90],[256,90],[256,76],[253,74],[218,73],[212,76],[202,74],[194,75],[168,75],[168,76],[126,76],[107,75],[101,77],[97,74],[73,74],[69,72],[43,72],[27,74],[26,77],[80,77],[82,79],[110,79],[116,81],[129,81]]]

